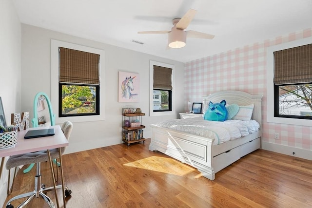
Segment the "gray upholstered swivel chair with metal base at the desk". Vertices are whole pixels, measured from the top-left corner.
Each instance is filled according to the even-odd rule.
[[[73,129],[73,123],[70,122],[70,121],[65,121],[62,124],[61,129],[64,132],[65,137],[69,140],[70,134],[71,134],[72,129]],[[63,187],[61,185],[56,186],[54,168],[52,167],[52,163],[50,163],[50,169],[51,169],[51,174],[52,174],[52,178],[53,178],[53,181],[54,181],[54,187],[45,188],[45,185],[41,185],[40,163],[60,158],[60,156],[64,153],[66,147],[62,147],[60,149],[61,149],[61,152],[59,152],[58,148],[49,150],[50,151],[50,155],[51,155],[50,158],[49,158],[48,151],[36,151],[36,152],[30,152],[30,153],[25,153],[25,154],[13,155],[13,156],[9,157],[9,159],[6,162],[6,165],[5,165],[5,168],[7,170],[9,170],[8,184],[10,184],[10,170],[12,168],[17,168],[18,166],[21,166],[21,165],[28,165],[28,164],[36,163],[36,165],[37,165],[37,173],[36,173],[36,176],[35,176],[35,190],[13,197],[12,199],[10,199],[7,202],[6,208],[14,208],[11,205],[12,201],[20,199],[20,198],[28,197],[22,204],[20,204],[19,208],[22,208],[25,205],[27,205],[32,199],[39,198],[39,196],[41,196],[44,199],[44,201],[46,201],[48,203],[50,208],[54,208],[55,206],[54,206],[53,201],[47,195],[45,195],[43,193],[45,191],[53,190],[53,189],[55,190],[55,198],[56,198],[56,201],[57,201],[57,206],[59,208],[59,201],[58,201],[58,195],[57,195],[57,190],[56,189],[62,189]],[[63,173],[62,173],[62,166],[61,166],[61,177],[62,177],[62,184],[64,184],[64,177],[63,177]],[[12,188],[13,188],[13,185],[12,185]],[[12,190],[9,191],[9,186],[8,186],[8,194],[10,194],[11,192],[12,192]],[[72,191],[69,190],[67,187],[65,187],[65,190],[63,190],[64,208],[65,208],[65,197],[64,197],[64,194],[65,194],[65,196],[69,196],[71,194],[71,192]]]

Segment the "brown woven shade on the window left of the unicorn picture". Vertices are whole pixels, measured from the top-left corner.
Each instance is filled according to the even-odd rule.
[[[99,55],[59,47],[59,82],[99,84]]]

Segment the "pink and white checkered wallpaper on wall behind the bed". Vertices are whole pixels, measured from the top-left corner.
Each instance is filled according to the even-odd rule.
[[[312,150],[312,127],[268,123],[266,47],[312,37],[312,28],[265,40],[186,63],[184,82],[187,102],[201,102],[202,96],[221,90],[239,90],[262,99],[262,140]],[[278,132],[280,139],[274,139]]]

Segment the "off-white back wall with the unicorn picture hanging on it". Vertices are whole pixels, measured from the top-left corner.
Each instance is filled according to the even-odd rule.
[[[184,63],[148,54],[119,48],[116,46],[78,38],[63,33],[22,24],[22,111],[29,111],[33,117],[33,99],[38,92],[45,92],[51,101],[51,39],[84,45],[105,50],[105,106],[104,121],[75,122],[66,151],[76,152],[122,143],[119,127],[122,125],[121,109],[132,105],[141,108],[146,116],[142,123],[146,126],[144,137],[151,136],[151,123],[177,118],[178,113],[184,112]],[[168,116],[149,116],[149,76],[150,60],[173,64],[176,67],[174,91],[176,95],[176,114]],[[118,102],[118,71],[138,73],[140,76],[140,102]],[[53,102],[53,101],[52,101]],[[57,112],[54,112],[57,113]],[[70,120],[70,118],[68,118]]]

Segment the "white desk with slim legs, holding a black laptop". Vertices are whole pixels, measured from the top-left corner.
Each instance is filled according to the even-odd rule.
[[[24,135],[29,130],[50,129],[50,128],[54,128],[55,135],[39,137],[39,138],[24,139]],[[68,146],[68,140],[66,139],[60,126],[37,127],[37,128],[29,128],[27,130],[20,131],[18,132],[18,142],[17,144],[15,144],[14,147],[0,150],[0,157],[2,157],[0,174],[3,169],[4,157],[6,156],[23,154],[23,153],[33,152],[33,151],[51,150],[55,148],[58,148],[60,152],[60,148],[66,147],[66,146]],[[61,158],[60,158],[60,164],[62,164]],[[65,208],[66,205],[65,205],[65,197],[64,197],[64,179],[63,179],[62,165],[60,167],[61,167],[61,177],[62,177],[63,203],[64,203],[64,208]],[[52,170],[52,161],[50,161],[50,168]],[[55,184],[54,176],[53,176],[53,181],[54,181],[54,188],[55,188],[56,184]],[[56,189],[55,189],[55,194],[56,194],[57,205],[59,207]]]

